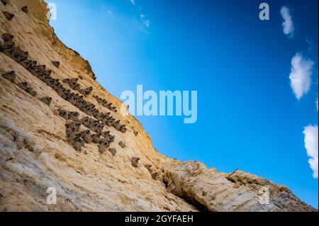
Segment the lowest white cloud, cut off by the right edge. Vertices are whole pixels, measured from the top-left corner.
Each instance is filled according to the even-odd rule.
[[[313,178],[318,179],[318,125],[308,125],[303,130],[305,135],[305,147],[310,157],[308,163],[313,170]]]

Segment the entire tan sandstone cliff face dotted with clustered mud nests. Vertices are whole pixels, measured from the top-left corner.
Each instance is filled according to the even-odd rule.
[[[9,0],[6,6],[0,2],[0,10],[14,15],[9,20],[0,13],[0,35],[12,34],[15,47],[27,51],[29,60],[46,65],[43,73],[51,79],[77,79],[74,89],[89,89],[83,100],[107,114],[84,113],[82,106],[53,89],[54,81],[35,76],[40,72],[26,69],[2,49],[0,74],[14,71],[15,77],[9,81],[0,76],[1,211],[316,211],[288,188],[258,176],[242,171],[223,174],[159,154],[138,120],[116,110],[122,102],[95,81],[89,62],[58,40],[43,0]],[[29,89],[18,86],[23,82]],[[43,103],[43,98],[49,101]],[[88,143],[77,144],[74,140],[84,137],[67,135],[66,123],[72,121],[62,109],[78,112],[79,120],[91,117],[99,122],[111,116],[116,122],[104,120],[109,132],[102,134],[100,146],[90,137],[85,139]],[[89,129],[81,125],[79,132],[84,130]],[[99,126],[90,130],[98,134]],[[99,152],[101,145],[108,151]],[[136,167],[133,158],[139,159]],[[54,205],[47,204],[47,188],[57,191]],[[259,202],[264,188],[269,204]]]

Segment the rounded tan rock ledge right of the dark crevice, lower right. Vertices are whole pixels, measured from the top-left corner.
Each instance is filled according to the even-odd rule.
[[[315,211],[284,186],[259,176],[235,171],[223,174],[200,162],[176,162],[164,167],[167,190],[199,210],[208,211]],[[262,200],[269,193],[269,203]],[[264,203],[264,204],[261,204]]]

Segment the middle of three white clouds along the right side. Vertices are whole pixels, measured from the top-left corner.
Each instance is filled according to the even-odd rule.
[[[313,64],[312,60],[306,60],[298,52],[291,60],[289,79],[291,81],[291,89],[293,89],[298,100],[303,94],[307,94],[310,89]]]

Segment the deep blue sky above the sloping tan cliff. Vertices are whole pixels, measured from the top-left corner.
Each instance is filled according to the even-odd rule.
[[[139,84],[157,92],[198,91],[194,124],[137,117],[159,152],[257,174],[318,208],[318,179],[303,136],[307,125],[318,125],[318,1],[48,2],[57,5],[51,21],[57,36],[89,60],[97,80],[118,98]],[[270,6],[269,21],[259,20],[262,2]],[[293,21],[291,34],[284,34],[282,6]],[[301,98],[289,79],[297,53],[313,62]],[[298,67],[295,74],[304,75]]]

